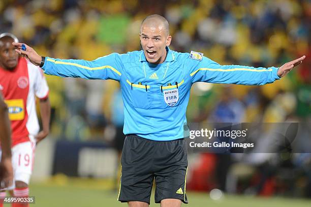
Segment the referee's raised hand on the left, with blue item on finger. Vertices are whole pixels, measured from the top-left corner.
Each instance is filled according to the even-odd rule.
[[[19,42],[13,42],[12,44],[16,47],[15,51],[18,54],[25,56],[30,63],[40,66],[42,58],[32,47]],[[22,45],[24,45],[23,48]]]

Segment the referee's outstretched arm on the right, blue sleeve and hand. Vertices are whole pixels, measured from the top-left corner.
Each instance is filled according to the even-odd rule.
[[[188,58],[191,81],[209,83],[227,83],[242,85],[264,85],[272,83],[289,73],[302,63],[305,56],[284,64],[282,67],[250,67],[239,65],[220,65],[208,57],[202,56],[200,61]]]

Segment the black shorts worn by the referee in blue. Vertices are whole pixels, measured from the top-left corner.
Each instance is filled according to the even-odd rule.
[[[150,204],[154,180],[156,203],[166,198],[188,203],[185,195],[188,160],[184,139],[153,141],[127,135],[121,165],[119,201],[142,201]]]

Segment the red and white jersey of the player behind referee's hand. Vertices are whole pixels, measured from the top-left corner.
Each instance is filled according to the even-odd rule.
[[[12,146],[29,141],[40,130],[35,96],[45,99],[49,93],[42,70],[20,57],[13,71],[0,67],[0,91],[9,108]]]

